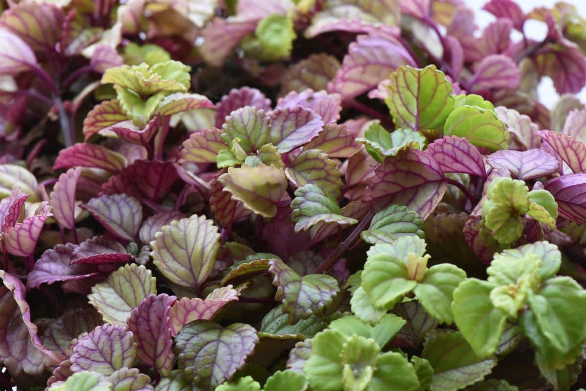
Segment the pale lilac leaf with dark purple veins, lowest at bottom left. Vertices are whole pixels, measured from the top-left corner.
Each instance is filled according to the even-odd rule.
[[[121,325],[105,324],[77,338],[70,357],[71,370],[91,370],[109,376],[132,366],[136,354],[132,332]]]

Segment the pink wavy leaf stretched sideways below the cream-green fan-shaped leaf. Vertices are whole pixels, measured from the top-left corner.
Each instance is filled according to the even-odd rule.
[[[212,319],[226,304],[237,301],[238,295],[232,285],[227,285],[214,289],[205,300],[199,297],[192,299],[183,297],[175,301],[169,313],[173,336],[177,335],[190,322],[197,319]]]

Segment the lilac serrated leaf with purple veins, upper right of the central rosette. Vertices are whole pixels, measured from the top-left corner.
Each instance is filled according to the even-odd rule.
[[[271,120],[269,140],[280,154],[308,143],[323,128],[319,115],[301,106],[277,108],[268,116]]]

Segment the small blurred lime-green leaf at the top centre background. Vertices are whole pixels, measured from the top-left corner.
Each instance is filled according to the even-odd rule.
[[[297,37],[293,22],[286,15],[268,15],[258,22],[255,34],[270,59],[280,59],[291,53],[293,40]]]

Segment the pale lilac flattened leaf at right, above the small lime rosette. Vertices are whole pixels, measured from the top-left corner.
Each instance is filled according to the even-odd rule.
[[[497,151],[488,157],[494,168],[506,168],[511,176],[522,181],[548,176],[557,171],[557,159],[541,149],[529,151]]]

